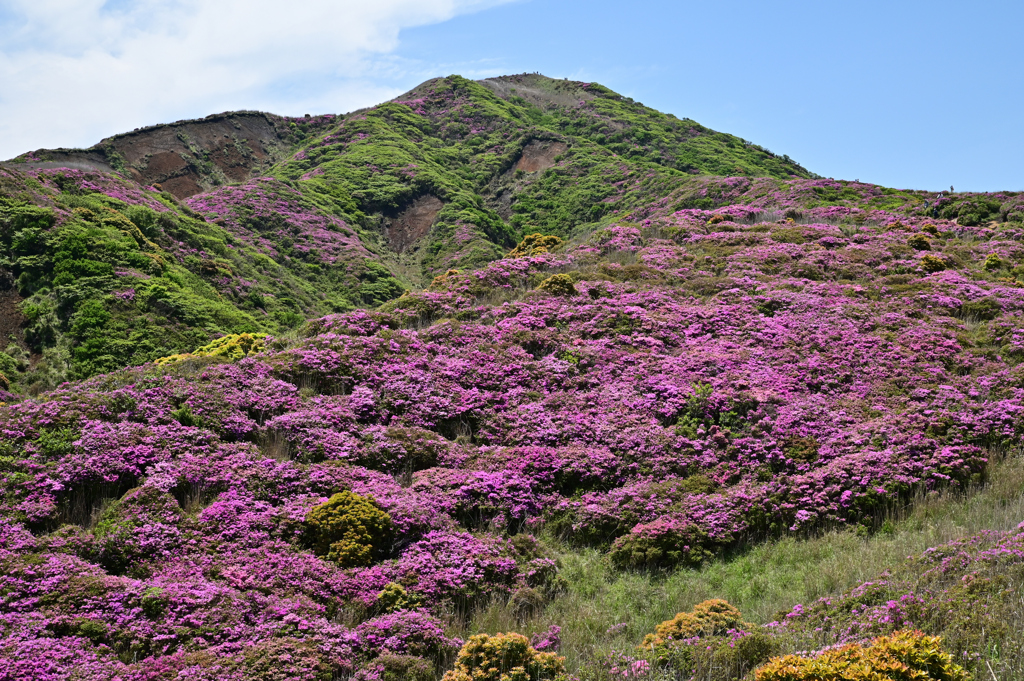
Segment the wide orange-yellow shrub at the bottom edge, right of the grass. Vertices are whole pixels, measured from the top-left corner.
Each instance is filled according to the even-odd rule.
[[[969,681],[971,675],[940,643],[937,636],[902,631],[816,657],[773,657],[754,674],[757,681]]]

